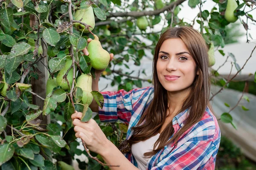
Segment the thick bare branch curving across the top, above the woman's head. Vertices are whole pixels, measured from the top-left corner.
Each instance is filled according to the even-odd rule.
[[[181,3],[183,3],[186,0],[177,0],[168,6],[163,7],[162,9],[158,9],[155,11],[140,11],[140,12],[115,12],[115,13],[110,13],[107,15],[107,17],[141,17],[141,16],[152,16],[152,15],[158,15],[160,13],[163,13],[165,11],[169,11],[173,8],[173,6],[178,6]]]

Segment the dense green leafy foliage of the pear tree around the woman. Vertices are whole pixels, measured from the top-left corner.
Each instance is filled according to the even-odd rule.
[[[81,33],[73,28],[74,22],[79,23],[71,18],[74,11],[93,7],[96,16],[93,33],[99,36],[102,46],[115,55],[102,73],[102,78],[112,80],[111,86],[117,85],[118,89],[129,91],[135,87],[142,87],[143,81],[151,83],[151,80],[132,76],[135,70],[129,70],[128,62],[140,66],[141,60],[146,57],[145,50],[150,50],[153,54],[161,33],[169,27],[194,26],[197,22],[201,25],[200,31],[208,45],[213,42],[218,48],[225,46],[224,40],[227,37],[225,28],[230,24],[224,18],[227,1],[214,0],[218,9],[214,6],[211,11],[201,11],[204,2],[189,0],[190,8],[200,7],[198,15],[191,23],[177,17],[180,10],[177,7],[181,6],[183,1],[166,0],[164,9],[156,9],[154,1],[147,0],[142,0],[142,3],[138,0],[132,3],[121,0],[99,0],[96,3],[89,0],[0,0],[0,165],[2,169],[54,170],[60,169],[63,162],[71,164],[75,154],[88,156],[87,152],[77,149],[79,142],[74,136],[70,118],[75,110],[85,114],[91,113],[79,103],[81,94],[76,91],[78,88],[74,88],[76,76],[65,90],[57,86],[49,94],[45,94],[44,88],[40,89],[42,95],[35,94],[36,83],[41,82],[44,77],[56,77],[70,58],[72,72],[78,68],[78,76],[81,73],[94,76],[95,70],[91,68],[90,60],[81,52],[87,46],[87,38],[93,38],[93,35],[90,32]],[[246,15],[253,21],[250,12],[244,12],[245,6],[252,5],[248,3],[249,1],[245,2],[237,1],[239,7],[235,14]],[[116,12],[112,13],[113,11]],[[137,27],[136,20],[142,16],[146,16],[148,20],[149,26],[146,30]],[[160,22],[164,22],[161,31],[152,32],[155,26],[160,26]],[[248,29],[247,23],[241,21],[241,24],[246,30]],[[85,25],[84,29],[87,28],[88,26]],[[142,42],[137,35],[150,40],[151,44]],[[224,54],[221,50],[219,52]],[[236,69],[240,72],[240,66],[236,63],[235,57],[232,57]],[[45,74],[41,66],[45,66],[49,75]],[[117,66],[129,71],[115,69]],[[140,71],[139,73],[147,74],[145,70]],[[218,75],[216,70],[212,72],[214,73],[212,76]],[[68,76],[68,74],[64,75],[64,79],[67,80]],[[223,88],[229,81],[231,80],[222,80]],[[102,96],[97,92],[93,92],[93,96],[101,105]],[[41,104],[35,98],[41,99]],[[45,121],[49,120],[49,117],[50,124]],[[120,122],[101,124],[99,116],[94,119],[116,146],[125,139],[127,125]],[[225,113],[221,120],[232,123],[232,116]],[[95,153],[91,155],[103,161],[99,155]],[[58,163],[55,163],[56,161]],[[88,163],[79,161],[79,167],[88,170],[108,169],[100,166],[92,158],[89,158]]]

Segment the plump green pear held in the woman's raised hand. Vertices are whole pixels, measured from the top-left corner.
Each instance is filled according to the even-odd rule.
[[[97,37],[97,35],[93,36],[94,40],[91,40],[87,46],[91,65],[94,69],[105,69],[108,67],[110,55],[105,49],[102,48],[101,43],[99,42],[99,37]]]

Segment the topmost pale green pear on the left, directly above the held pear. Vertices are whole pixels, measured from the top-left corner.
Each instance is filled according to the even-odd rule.
[[[93,28],[90,28],[90,31],[92,31],[95,27],[95,19],[94,19],[94,14],[93,14],[93,7],[90,6],[87,9],[79,9],[76,10],[75,14],[74,14],[74,20],[80,20],[81,18],[83,18],[81,20],[81,22],[88,24],[89,26],[92,26]],[[84,33],[88,33],[89,30],[88,29],[84,29],[84,25],[80,24],[80,23],[75,23],[74,26],[76,27],[76,29],[78,29],[81,32]]]

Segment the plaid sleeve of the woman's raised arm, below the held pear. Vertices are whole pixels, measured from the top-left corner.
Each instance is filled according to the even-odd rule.
[[[144,98],[148,98],[152,87],[137,88],[126,92],[121,89],[116,92],[101,92],[104,97],[102,109],[99,107],[99,119],[102,122],[120,120],[129,124],[136,108],[142,105]]]

